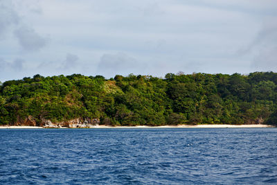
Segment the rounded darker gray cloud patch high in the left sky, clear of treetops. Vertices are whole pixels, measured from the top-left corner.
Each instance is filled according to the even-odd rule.
[[[42,49],[48,41],[46,38],[39,36],[33,28],[28,28],[27,26],[21,26],[14,33],[19,44],[26,51]]]

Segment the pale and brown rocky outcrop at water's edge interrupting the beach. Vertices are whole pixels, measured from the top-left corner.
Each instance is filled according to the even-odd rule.
[[[70,128],[89,128],[89,127],[95,127],[99,125],[100,120],[98,118],[85,118],[82,120],[81,118],[75,118],[70,121],[62,121],[60,123],[52,123],[50,120],[42,119],[41,125],[43,127],[52,127],[52,128],[58,128],[58,127],[70,127]]]

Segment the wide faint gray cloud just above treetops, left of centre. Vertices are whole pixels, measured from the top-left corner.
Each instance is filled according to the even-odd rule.
[[[125,53],[104,54],[98,64],[98,73],[113,77],[116,74],[127,75],[141,70],[141,64]]]

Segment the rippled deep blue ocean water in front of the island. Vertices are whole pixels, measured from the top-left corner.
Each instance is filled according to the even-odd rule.
[[[277,128],[0,130],[0,184],[277,184]]]

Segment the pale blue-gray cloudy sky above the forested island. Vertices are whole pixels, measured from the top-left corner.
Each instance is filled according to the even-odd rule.
[[[277,71],[276,0],[0,0],[0,81]]]

